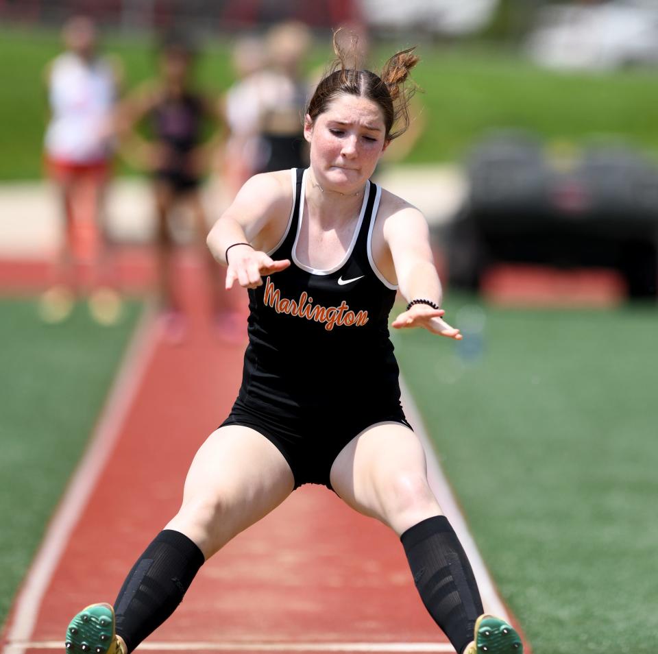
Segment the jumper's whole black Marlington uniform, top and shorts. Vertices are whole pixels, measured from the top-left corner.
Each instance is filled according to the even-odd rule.
[[[375,268],[370,238],[380,189],[367,182],[354,239],[334,269],[295,256],[306,171],[293,169],[288,228],[269,253],[291,265],[249,289],[249,346],[239,396],[224,425],[263,434],[288,461],[295,487],[330,486],[331,465],[365,428],[409,426],[400,406],[388,317],[395,287]]]

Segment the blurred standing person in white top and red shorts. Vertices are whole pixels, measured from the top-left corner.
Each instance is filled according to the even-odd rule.
[[[91,315],[108,325],[121,315],[119,294],[108,285],[103,220],[121,66],[117,59],[99,55],[97,29],[87,16],[66,21],[62,38],[66,50],[45,71],[50,110],[45,167],[57,187],[65,230],[55,283],[42,295],[39,312],[46,322],[61,322],[82,290],[90,293]],[[80,271],[77,265],[82,265]]]

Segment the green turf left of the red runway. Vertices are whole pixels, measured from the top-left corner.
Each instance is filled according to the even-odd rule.
[[[48,326],[31,300],[0,300],[0,625],[82,451],[139,307],[95,325],[78,306]]]

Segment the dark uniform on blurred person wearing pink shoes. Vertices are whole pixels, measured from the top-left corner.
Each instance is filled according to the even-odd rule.
[[[164,96],[151,110],[154,136],[165,148],[165,160],[154,176],[170,184],[174,193],[193,191],[201,181],[191,167],[191,154],[202,141],[204,114],[202,98],[191,93]]]

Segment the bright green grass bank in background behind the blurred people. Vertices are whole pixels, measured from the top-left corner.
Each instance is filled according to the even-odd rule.
[[[375,64],[406,45],[410,44],[378,49]],[[106,46],[123,59],[127,88],[152,75],[154,53],[144,38],[108,38]],[[11,126],[3,138],[0,180],[40,176],[46,117],[42,70],[58,49],[58,37],[52,32],[0,28],[0,75],[11,90],[0,106],[0,124]],[[200,80],[215,93],[225,90],[232,79],[228,53],[226,44],[210,43],[200,62]],[[622,136],[658,155],[658,130],[647,110],[658,104],[653,71],[552,73],[511,54],[474,47],[439,49],[424,44],[419,54],[423,61],[414,77],[425,91],[419,99],[427,127],[409,156],[412,162],[462,158],[474,138],[510,125],[536,130],[549,140],[574,143],[594,136]],[[328,46],[318,47],[310,65],[330,56]]]

